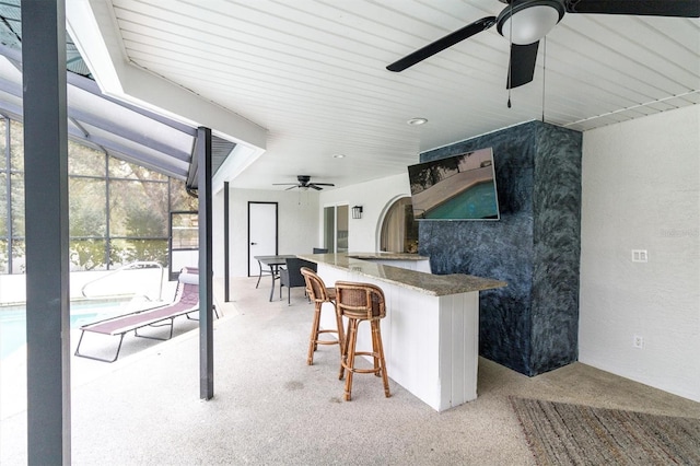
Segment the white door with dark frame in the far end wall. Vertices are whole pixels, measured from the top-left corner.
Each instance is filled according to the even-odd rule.
[[[248,277],[260,271],[255,256],[277,253],[277,202],[248,202]]]

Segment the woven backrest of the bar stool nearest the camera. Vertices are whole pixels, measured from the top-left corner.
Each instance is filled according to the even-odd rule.
[[[374,321],[386,316],[384,292],[372,283],[337,281],[336,306],[349,318]]]

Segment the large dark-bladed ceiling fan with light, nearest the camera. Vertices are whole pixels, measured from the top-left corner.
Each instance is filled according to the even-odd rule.
[[[486,16],[455,31],[386,67],[404,71],[453,45],[497,25],[511,43],[506,89],[527,84],[535,74],[539,39],[564,13],[628,14],[700,18],[700,0],[499,0],[508,7],[497,16]]]

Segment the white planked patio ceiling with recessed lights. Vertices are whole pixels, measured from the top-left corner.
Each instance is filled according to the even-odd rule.
[[[509,44],[495,26],[404,72],[385,69],[498,15],[497,0],[104,1],[128,62],[267,129],[265,153],[233,187],[284,189],[272,184],[296,175],[347,186],[542,115],[585,131],[700,103],[697,19],[567,14],[509,108]]]

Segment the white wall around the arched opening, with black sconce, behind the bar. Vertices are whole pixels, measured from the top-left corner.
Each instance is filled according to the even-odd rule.
[[[378,251],[378,229],[386,210],[404,196],[410,196],[408,173],[387,176],[346,188],[324,190],[319,197],[319,237],[323,237],[323,207],[347,203],[350,208],[362,206],[362,219],[352,219],[348,232],[351,252]]]

